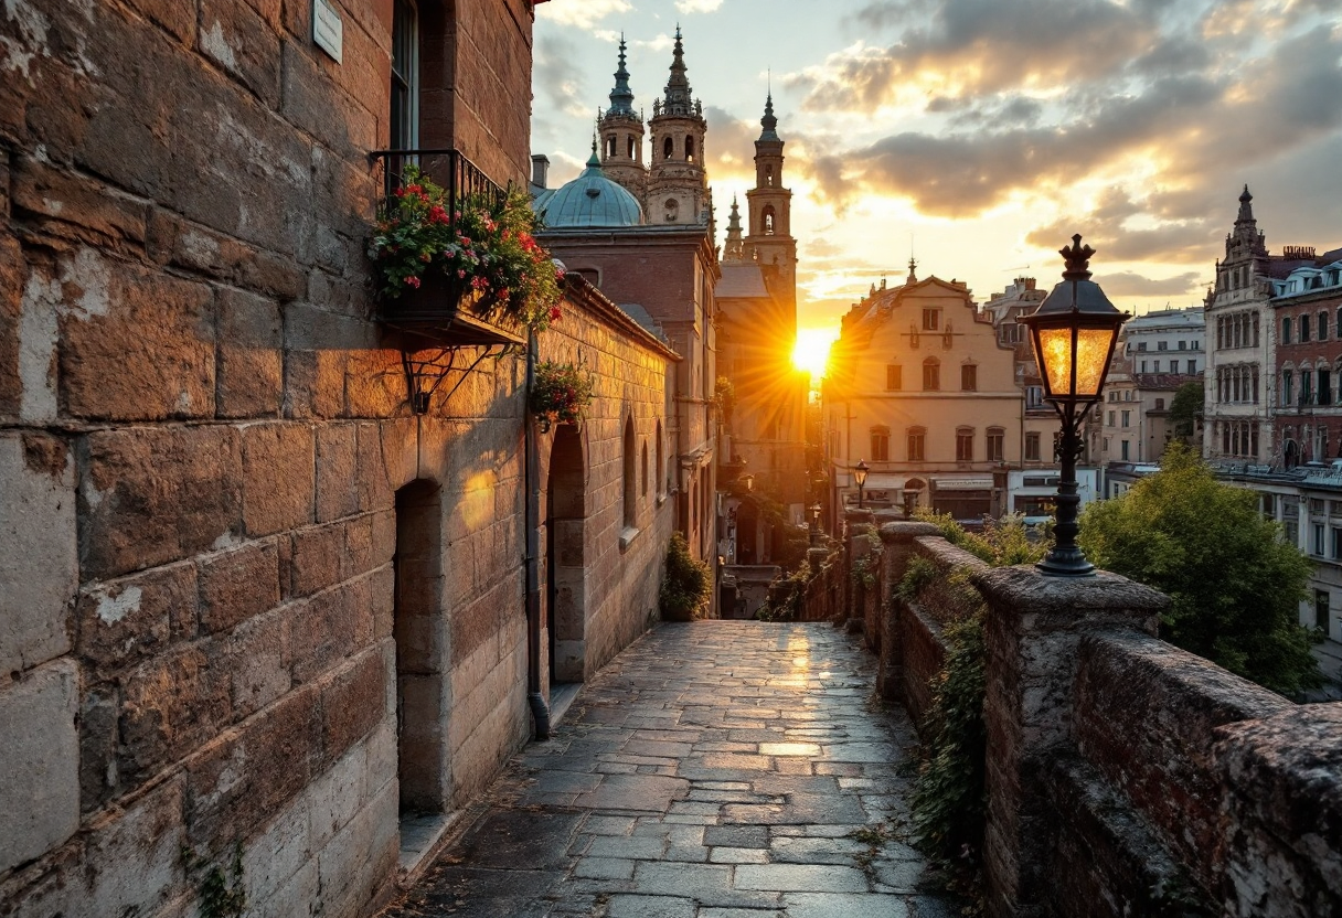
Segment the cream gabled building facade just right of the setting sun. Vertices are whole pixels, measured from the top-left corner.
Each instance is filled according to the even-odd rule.
[[[1023,452],[1012,345],[958,280],[878,290],[844,317],[824,384],[836,506],[931,506],[981,521],[1005,510],[1008,458]]]

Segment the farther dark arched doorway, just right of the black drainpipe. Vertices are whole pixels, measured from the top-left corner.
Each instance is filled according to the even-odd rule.
[[[560,424],[550,450],[545,521],[545,624],[550,682],[582,682],[586,658],[586,467],[582,436]]]

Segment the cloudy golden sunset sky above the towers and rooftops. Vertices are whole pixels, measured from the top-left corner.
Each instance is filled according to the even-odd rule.
[[[531,149],[552,185],[590,152],[620,32],[651,117],[676,23],[719,244],[772,81],[803,329],[902,282],[910,250],[978,302],[1052,285],[1074,232],[1121,309],[1196,305],[1244,183],[1271,251],[1342,246],[1338,0],[550,0]]]

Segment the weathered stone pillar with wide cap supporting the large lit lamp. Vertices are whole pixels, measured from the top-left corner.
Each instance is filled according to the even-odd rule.
[[[988,601],[988,828],[984,874],[993,918],[1041,915],[1048,824],[1043,766],[1074,746],[1072,686],[1082,636],[1154,635],[1169,597],[1118,574],[1045,577],[1033,568],[973,574]]]

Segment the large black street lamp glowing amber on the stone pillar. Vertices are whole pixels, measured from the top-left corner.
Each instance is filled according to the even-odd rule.
[[[1019,319],[1029,329],[1039,376],[1044,382],[1044,400],[1052,403],[1063,421],[1057,458],[1062,474],[1057,480],[1057,526],[1048,556],[1036,568],[1051,577],[1088,577],[1095,566],[1076,545],[1076,458],[1082,451],[1082,421],[1099,401],[1108,374],[1108,361],[1118,341],[1118,329],[1127,321],[1108,302],[1099,285],[1090,279],[1090,246],[1080,235],[1060,248],[1067,263],[1063,280],[1039,305]]]

